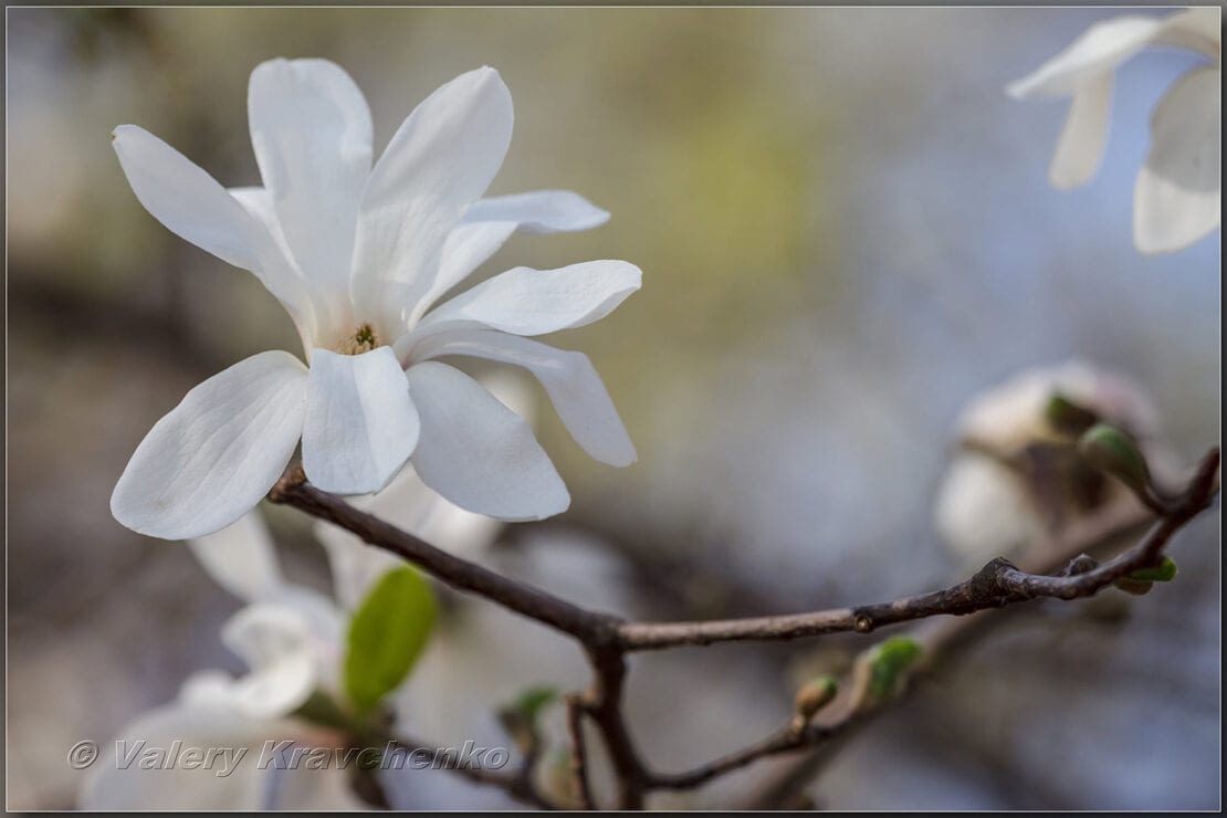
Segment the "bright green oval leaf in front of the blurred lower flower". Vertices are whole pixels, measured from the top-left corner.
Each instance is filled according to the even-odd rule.
[[[345,692],[368,713],[395,690],[426,646],[434,625],[434,594],[409,565],[375,583],[350,621]]]

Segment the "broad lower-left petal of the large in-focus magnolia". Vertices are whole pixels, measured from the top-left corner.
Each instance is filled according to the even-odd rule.
[[[307,373],[286,352],[240,361],[188,392],[128,462],[110,513],[163,540],[202,537],[260,502],[298,444]]]

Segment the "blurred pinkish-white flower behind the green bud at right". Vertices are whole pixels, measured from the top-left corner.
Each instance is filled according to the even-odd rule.
[[[957,423],[960,451],[935,521],[962,567],[1017,554],[1070,519],[1130,497],[1059,443],[1045,417],[1058,395],[1128,430],[1156,475],[1168,471],[1158,412],[1141,386],[1080,361],[1026,369],[972,399]]]

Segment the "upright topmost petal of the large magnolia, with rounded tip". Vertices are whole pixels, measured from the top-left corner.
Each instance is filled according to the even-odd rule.
[[[371,173],[371,110],[328,60],[261,63],[248,86],[252,146],[293,258],[347,294],[353,232]]]

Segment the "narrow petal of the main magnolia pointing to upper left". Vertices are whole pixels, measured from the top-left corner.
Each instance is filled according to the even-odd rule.
[[[175,235],[260,278],[299,324],[307,289],[269,231],[225,188],[173,147],[136,125],[120,125],[112,147],[136,199]]]

